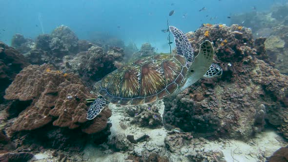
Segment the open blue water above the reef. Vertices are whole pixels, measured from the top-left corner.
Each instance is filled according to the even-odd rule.
[[[0,0],[0,41],[10,44],[16,33],[34,39],[42,30],[50,34],[63,24],[79,39],[92,40],[101,32],[125,43],[134,41],[138,47],[149,42],[157,52],[167,52],[167,33],[161,32],[167,28],[167,19],[188,32],[202,23],[229,24],[227,16],[252,11],[253,6],[265,11],[273,3],[284,2],[287,0]],[[206,10],[199,12],[202,7]],[[171,10],[175,13],[168,16]]]

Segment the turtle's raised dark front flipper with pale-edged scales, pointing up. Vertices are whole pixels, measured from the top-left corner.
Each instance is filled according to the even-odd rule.
[[[188,38],[185,36],[185,34],[177,29],[174,26],[169,26],[170,32],[173,34],[175,38],[175,45],[178,55],[183,55],[187,61],[193,62],[194,55],[193,55],[193,48],[188,40]]]

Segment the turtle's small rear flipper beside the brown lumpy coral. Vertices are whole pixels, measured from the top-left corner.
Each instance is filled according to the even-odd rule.
[[[94,100],[94,99],[93,99]],[[87,100],[88,102],[91,100]],[[87,112],[87,118],[88,120],[94,119],[100,112],[104,109],[104,107],[109,104],[108,101],[106,101],[102,96],[95,99],[93,103],[90,105],[89,110]]]

